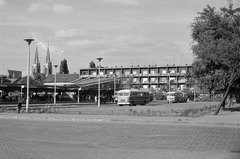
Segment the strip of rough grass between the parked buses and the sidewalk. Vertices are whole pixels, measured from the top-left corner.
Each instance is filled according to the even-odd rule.
[[[210,114],[217,108],[216,103],[176,103],[159,104],[150,103],[148,106],[119,107],[117,105],[103,105],[98,108],[91,106],[35,106],[29,109],[29,113],[49,113],[49,114],[78,114],[78,115],[123,115],[123,116],[149,116],[149,117],[201,117]],[[1,110],[7,112],[9,110]],[[15,108],[12,111],[16,111]]]

